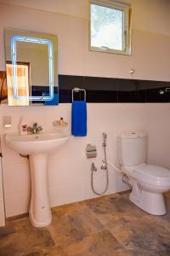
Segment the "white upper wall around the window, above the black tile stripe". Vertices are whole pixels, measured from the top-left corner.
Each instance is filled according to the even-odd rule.
[[[72,1],[66,2],[71,3]],[[82,2],[88,4],[86,0],[77,1],[77,6],[82,6]],[[25,3],[31,4],[30,1],[25,1]],[[58,1],[59,3],[62,1]],[[82,14],[80,11],[83,15],[80,18],[71,16],[72,13],[71,15],[60,15],[1,4],[0,37],[3,38],[4,27],[57,34],[59,36],[60,74],[128,79],[131,78],[128,73],[129,69],[135,68],[134,79],[170,80],[170,59],[168,57],[170,55],[170,32],[167,29],[170,24],[167,12],[170,4],[165,0],[132,1],[132,3],[134,6],[132,56],[88,50],[88,12]],[[87,10],[87,8],[88,5],[84,9]],[[59,11],[61,10],[59,9]],[[42,22],[42,20],[46,21]],[[0,70],[2,70],[4,69],[3,44],[0,45],[0,55]]]

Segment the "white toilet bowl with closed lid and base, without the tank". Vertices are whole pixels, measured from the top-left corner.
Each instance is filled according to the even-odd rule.
[[[123,166],[124,172],[132,183],[129,195],[137,207],[153,215],[166,213],[163,193],[170,190],[170,171],[161,166],[139,165]]]

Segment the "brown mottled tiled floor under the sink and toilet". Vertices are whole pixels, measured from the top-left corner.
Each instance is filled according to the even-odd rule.
[[[170,255],[169,195],[166,201],[163,217],[115,194],[57,207],[47,228],[33,228],[28,218],[10,221],[0,229],[0,256]]]

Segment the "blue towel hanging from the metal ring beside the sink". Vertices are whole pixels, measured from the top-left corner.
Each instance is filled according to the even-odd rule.
[[[86,102],[72,102],[71,134],[75,137],[87,136],[87,105]]]

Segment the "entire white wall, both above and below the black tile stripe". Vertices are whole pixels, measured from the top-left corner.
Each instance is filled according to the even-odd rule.
[[[9,3],[10,0],[5,1]],[[23,1],[15,0],[19,5]],[[128,70],[135,68],[134,79],[170,81],[170,34],[167,23],[167,1],[132,1],[133,55],[113,55],[88,51],[88,1],[50,1],[47,11],[37,10],[37,1],[24,1],[29,7],[0,4],[0,38],[4,27],[57,34],[59,37],[59,73],[115,78],[131,78]],[[141,3],[142,2],[142,3]],[[148,3],[150,2],[150,3]],[[42,3],[42,1],[41,1]],[[65,3],[68,3],[65,7]],[[70,4],[72,3],[72,4]],[[75,5],[74,3],[77,3]],[[30,5],[33,4],[33,5]],[[56,5],[53,5],[56,4]],[[59,4],[59,6],[58,6]],[[39,4],[40,6],[40,4]],[[42,5],[41,5],[42,6]],[[52,7],[54,12],[49,12]],[[159,8],[158,8],[159,7]],[[150,12],[148,11],[150,9]],[[56,12],[59,10],[60,13]],[[157,15],[161,11],[160,15]],[[162,18],[163,17],[163,18]],[[45,20],[45,22],[43,22]],[[144,22],[142,22],[144,20]],[[4,69],[4,45],[0,44],[0,70]],[[77,85],[77,84],[75,84]],[[87,143],[96,144],[98,157],[94,160],[96,189],[104,188],[105,172],[100,171],[103,151],[102,132],[108,135],[108,158],[117,164],[116,133],[142,130],[149,134],[150,163],[170,168],[169,104],[88,104],[88,137],[71,137],[70,141],[49,157],[49,195],[52,206],[94,197],[90,188],[90,164],[85,157]],[[13,127],[3,129],[3,116],[11,115]],[[0,133],[17,131],[20,116],[28,125],[37,121],[44,130],[54,129],[54,119],[63,116],[71,125],[71,104],[59,107],[0,108]],[[3,141],[3,178],[7,217],[28,211],[30,173],[26,159],[6,147]],[[116,172],[110,168],[108,193],[126,189]]]

